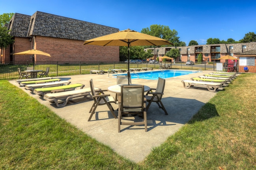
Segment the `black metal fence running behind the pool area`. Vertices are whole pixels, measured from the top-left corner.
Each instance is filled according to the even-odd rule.
[[[163,62],[163,64],[165,64]],[[184,62],[167,63],[170,64],[170,69],[192,69],[192,70],[216,70],[216,63],[207,64],[206,62],[195,63],[194,65],[186,65]],[[89,74],[90,70],[108,70],[108,69],[127,69],[126,62],[36,62],[34,65],[30,62],[20,62],[15,64],[0,64],[0,80],[2,79],[18,79],[18,68],[25,71],[27,67],[34,67],[35,70],[45,71],[47,67],[50,68],[49,76],[65,76],[65,75],[79,75]],[[130,63],[130,68],[154,68],[159,69],[159,63]]]

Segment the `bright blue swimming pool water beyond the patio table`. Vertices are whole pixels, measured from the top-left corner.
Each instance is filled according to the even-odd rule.
[[[131,73],[131,79],[158,79],[161,77],[167,79],[170,77],[176,77],[180,75],[188,75],[191,73],[196,73],[196,71],[183,71],[183,70],[163,70],[163,71],[145,71],[141,73]],[[127,75],[127,74],[118,74],[118,75]]]

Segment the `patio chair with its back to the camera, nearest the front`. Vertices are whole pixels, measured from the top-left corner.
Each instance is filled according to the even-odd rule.
[[[142,114],[143,121],[124,119],[124,115]],[[146,98],[144,85],[121,85],[121,95],[118,97],[118,132],[121,125],[143,125],[147,129]]]

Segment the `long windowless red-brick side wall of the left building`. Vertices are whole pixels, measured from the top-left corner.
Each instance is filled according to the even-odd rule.
[[[118,46],[83,45],[81,40],[41,36],[35,39],[35,49],[51,55],[37,55],[36,61],[119,61]]]

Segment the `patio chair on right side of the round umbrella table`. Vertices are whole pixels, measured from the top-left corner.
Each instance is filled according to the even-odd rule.
[[[148,102],[147,111],[151,103],[156,102],[159,108],[164,110],[165,115],[168,115],[166,109],[164,108],[164,104],[161,101],[164,94],[164,86],[165,86],[165,79],[162,79],[159,77],[157,82],[157,88],[150,88],[150,91],[148,91],[148,93],[146,94],[146,99]]]

